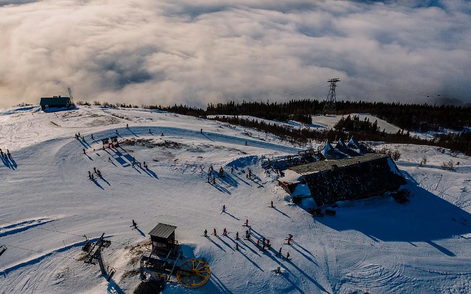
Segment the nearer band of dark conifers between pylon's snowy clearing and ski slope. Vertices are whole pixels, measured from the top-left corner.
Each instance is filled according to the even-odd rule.
[[[316,142],[336,142],[339,139],[348,140],[354,136],[357,140],[362,141],[437,146],[451,150],[460,150],[466,155],[471,155],[471,132],[437,135],[433,140],[425,140],[411,137],[409,132],[404,130],[398,130],[394,134],[389,134],[380,131],[378,127],[374,128],[375,123],[370,122],[370,126],[364,127],[363,130],[346,130],[337,127],[335,129],[317,130],[312,128],[289,128],[277,123],[265,123],[264,121],[249,120],[237,116],[215,116],[212,120],[254,128],[265,133],[274,134],[284,141],[299,145],[307,144],[311,140]],[[351,120],[355,121],[355,119]]]

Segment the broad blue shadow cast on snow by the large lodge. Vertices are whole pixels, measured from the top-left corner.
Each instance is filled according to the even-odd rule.
[[[368,204],[339,209],[335,217],[317,221],[338,231],[357,230],[382,241],[425,242],[448,256],[454,254],[431,240],[442,240],[471,232],[458,220],[471,222],[471,215],[418,186],[409,173],[401,171],[411,191],[409,202]],[[386,207],[384,207],[386,206]],[[392,208],[393,207],[393,208]],[[374,240],[373,239],[373,240]]]

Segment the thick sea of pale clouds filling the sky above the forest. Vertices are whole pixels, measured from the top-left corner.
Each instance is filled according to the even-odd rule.
[[[67,94],[132,104],[471,102],[464,0],[0,0],[0,107]],[[293,94],[293,95],[291,95]],[[432,101],[436,102],[436,101]],[[460,100],[455,100],[460,102]]]

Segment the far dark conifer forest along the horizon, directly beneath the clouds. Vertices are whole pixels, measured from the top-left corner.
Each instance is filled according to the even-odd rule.
[[[471,125],[471,106],[366,101],[339,101],[336,105],[336,114],[338,115],[370,113],[397,125],[401,129],[411,131],[462,130],[465,126]],[[283,103],[249,101],[209,103],[206,110],[182,104],[166,107],[143,105],[143,107],[201,117],[208,115],[250,115],[266,120],[293,120],[309,124],[312,123],[311,115],[322,114],[324,103],[313,99],[303,99]]]

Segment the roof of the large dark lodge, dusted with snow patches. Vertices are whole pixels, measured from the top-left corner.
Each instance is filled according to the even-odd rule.
[[[303,176],[318,206],[396,191],[406,181],[391,157],[368,153],[291,167]]]

